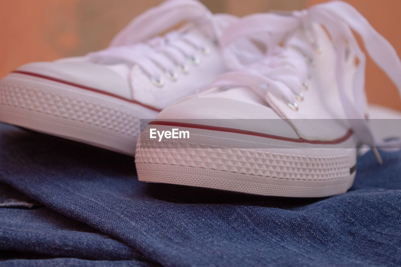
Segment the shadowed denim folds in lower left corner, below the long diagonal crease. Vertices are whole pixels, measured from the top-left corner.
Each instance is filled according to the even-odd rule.
[[[132,247],[24,196],[0,183],[0,259],[77,257],[123,261],[147,260]],[[9,201],[12,200],[12,201]]]

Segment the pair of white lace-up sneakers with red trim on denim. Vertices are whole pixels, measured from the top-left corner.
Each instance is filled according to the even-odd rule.
[[[344,2],[236,18],[168,0],[103,51],[10,73],[0,81],[0,121],[135,155],[145,182],[340,194],[352,186],[358,144],[379,162],[377,148],[400,146],[372,134],[352,30],[400,89],[397,53]],[[141,119],[150,121],[142,129]],[[174,129],[183,136],[153,138]]]

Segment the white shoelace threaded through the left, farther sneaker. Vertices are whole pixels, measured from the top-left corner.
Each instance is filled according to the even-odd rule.
[[[169,0],[134,18],[115,36],[110,47],[87,56],[106,64],[139,65],[155,85],[162,86],[162,75],[176,80],[176,69],[188,72],[188,59],[199,64],[196,51],[210,53],[205,40],[186,34],[185,30],[151,38],[185,20],[202,25],[211,39],[221,35],[215,17],[203,4],[195,0]]]

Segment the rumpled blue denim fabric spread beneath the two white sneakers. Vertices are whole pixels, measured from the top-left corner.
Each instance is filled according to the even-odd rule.
[[[65,243],[54,231],[43,231],[37,237],[44,247],[49,244],[47,255],[63,258],[3,263],[125,266],[131,262],[124,259],[132,259],[132,264],[166,266],[399,266],[401,153],[381,155],[381,166],[371,152],[358,159],[354,186],[345,194],[264,197],[138,182],[133,158],[0,125],[0,181],[48,207],[33,208],[40,223],[32,229],[65,227],[66,239],[81,248],[53,254]],[[28,216],[26,209],[12,209],[14,224]],[[0,217],[0,225],[12,216]],[[72,227],[73,221],[81,224]],[[0,235],[3,251],[26,251],[24,242],[34,238],[13,235]],[[10,236],[21,246],[4,245]],[[61,242],[57,249],[55,240]],[[89,261],[99,254],[109,261]]]

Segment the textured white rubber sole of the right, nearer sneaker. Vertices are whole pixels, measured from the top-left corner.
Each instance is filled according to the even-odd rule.
[[[324,197],[346,192],[356,174],[353,140],[338,148],[300,148],[243,134],[180,130],[189,130],[190,140],[158,142],[149,138],[148,129],[140,134],[135,159],[140,181],[266,196]]]

